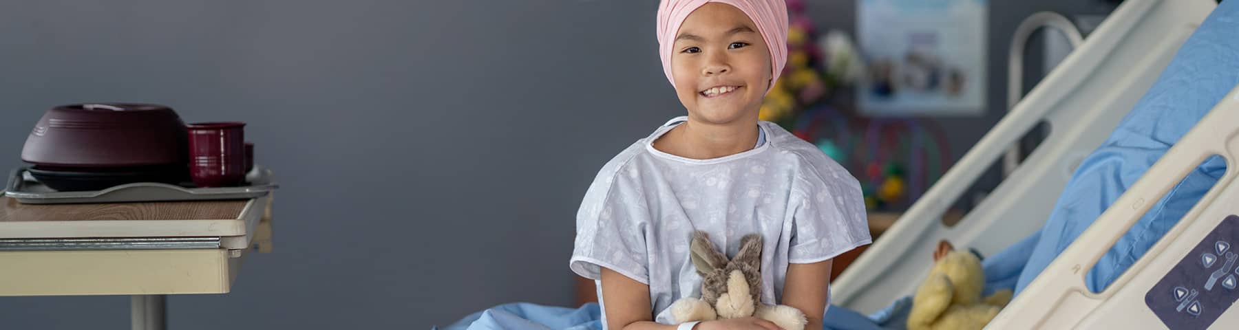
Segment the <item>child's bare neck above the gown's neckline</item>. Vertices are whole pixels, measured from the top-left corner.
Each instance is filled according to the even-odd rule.
[[[757,119],[727,124],[689,120],[654,141],[654,148],[690,159],[711,159],[750,151],[757,145]]]

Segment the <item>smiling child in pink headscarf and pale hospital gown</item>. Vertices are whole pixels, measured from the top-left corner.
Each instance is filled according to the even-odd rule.
[[[703,230],[729,257],[761,234],[762,303],[800,309],[821,329],[831,258],[870,236],[856,179],[757,120],[787,62],[787,21],[783,0],[659,4],[663,72],[688,116],[603,166],[576,218],[570,267],[598,283],[607,328],[777,329],[755,318],[672,324],[668,307],[700,294],[688,245]]]

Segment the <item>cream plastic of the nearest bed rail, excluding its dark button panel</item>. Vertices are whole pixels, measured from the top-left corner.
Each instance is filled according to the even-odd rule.
[[[1084,276],[1093,264],[1152,204],[1214,154],[1227,162],[1222,179],[1127,272],[1101,293],[1092,293],[1084,284]],[[1165,329],[1166,325],[1145,305],[1145,294],[1225,216],[1239,214],[1237,157],[1239,87],[1154,163],[986,329]],[[1212,308],[1229,309],[1209,329],[1239,326],[1239,308]]]

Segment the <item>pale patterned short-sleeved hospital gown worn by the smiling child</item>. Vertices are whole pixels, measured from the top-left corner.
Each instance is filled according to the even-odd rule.
[[[758,125],[764,143],[726,157],[690,159],[650,145],[684,120],[673,119],[602,167],[576,215],[574,272],[598,281],[606,267],[648,284],[654,320],[674,324],[672,303],[700,295],[688,248],[694,230],[709,232],[729,257],[740,237],[762,235],[767,304],[782,300],[788,263],[824,261],[871,242],[856,178],[815,146],[766,121]],[[601,292],[598,298],[605,305]]]

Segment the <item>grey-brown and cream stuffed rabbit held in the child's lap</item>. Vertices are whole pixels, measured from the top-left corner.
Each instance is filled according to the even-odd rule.
[[[693,232],[689,258],[701,276],[701,298],[684,297],[672,304],[678,323],[757,316],[787,330],[804,329],[804,313],[787,305],[761,303],[762,236],[745,235],[740,252],[727,257],[704,231]]]

